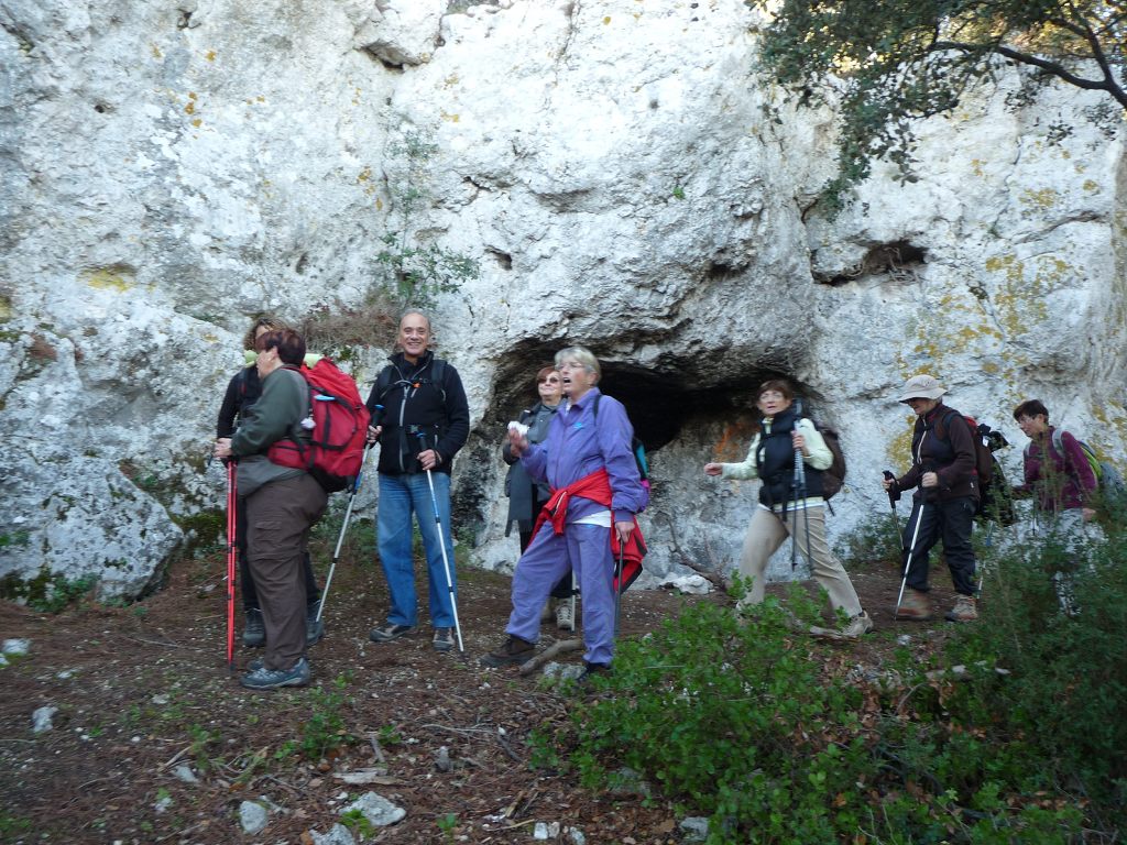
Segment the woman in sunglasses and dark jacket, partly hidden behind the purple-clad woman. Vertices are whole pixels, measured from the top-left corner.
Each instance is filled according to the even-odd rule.
[[[548,424],[552,421],[556,409],[564,399],[564,385],[556,367],[544,367],[536,373],[536,392],[540,401],[532,408],[521,411],[517,421],[529,427],[529,443],[542,443],[548,436]],[[506,438],[500,450],[502,459],[508,464],[508,475],[505,477],[505,495],[508,496],[508,519],[505,523],[505,536],[513,531],[516,523],[521,536],[521,553],[529,548],[532,539],[532,525],[536,515],[551,496],[547,483],[536,483],[525,472],[521,462],[513,454]],[[554,606],[556,624],[560,630],[575,630],[575,589],[571,586],[570,572],[560,579],[552,588],[551,598],[544,605],[543,621],[551,619]]]

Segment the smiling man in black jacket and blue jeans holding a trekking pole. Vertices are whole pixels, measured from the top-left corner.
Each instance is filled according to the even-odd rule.
[[[369,441],[380,441],[376,546],[391,597],[387,623],[372,629],[369,639],[391,642],[418,625],[411,549],[414,514],[426,552],[433,644],[436,651],[450,651],[454,647],[453,595],[446,585],[438,543],[445,544],[450,586],[456,588],[450,534],[450,471],[470,433],[470,408],[458,371],[428,349],[432,337],[426,314],[415,310],[403,313],[397,338],[400,352],[389,358],[367,398],[372,415]],[[438,502],[441,539],[431,481]]]

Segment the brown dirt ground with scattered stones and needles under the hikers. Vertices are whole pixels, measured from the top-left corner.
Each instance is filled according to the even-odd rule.
[[[221,554],[185,561],[166,589],[128,607],[87,602],[45,615],[0,604],[0,637],[30,640],[26,657],[0,669],[0,840],[311,843],[311,829],[327,833],[369,791],[407,815],[365,842],[529,843],[538,821],[578,828],[592,845],[682,840],[678,819],[660,801],[644,807],[530,765],[531,731],[567,719],[575,699],[539,676],[478,666],[503,639],[507,577],[461,572],[465,652],[440,655],[427,629],[371,643],[369,629],[387,611],[382,576],[371,564],[343,566],[326,606],[326,639],[310,652],[313,685],[252,693],[225,665],[224,568]],[[832,647],[848,649],[850,662],[879,665],[903,633],[920,648],[943,637],[942,621],[891,620],[894,570],[858,572],[854,582],[878,630],[862,643]],[[937,585],[933,595],[939,607],[950,605],[949,588]],[[631,590],[623,635],[700,601],[728,599]],[[542,646],[557,632],[545,624],[543,634]],[[255,656],[237,648],[238,668]],[[36,735],[32,713],[43,706],[57,713],[53,729]],[[355,739],[310,759],[294,749],[311,724],[330,739]],[[436,765],[443,747],[449,771]],[[196,783],[177,775],[183,766]],[[374,771],[375,782],[339,777],[360,770]],[[239,804],[259,798],[275,806],[269,824],[243,835]]]

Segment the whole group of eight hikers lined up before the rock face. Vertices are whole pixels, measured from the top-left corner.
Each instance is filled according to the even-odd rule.
[[[307,355],[298,332],[276,321],[255,322],[246,338],[254,362],[228,386],[215,456],[227,462],[228,661],[233,668],[236,567],[242,585],[243,644],[263,646],[241,683],[256,690],[296,686],[310,677],[307,649],[323,635],[323,593],[309,560],[313,525],[328,495],[349,490],[348,506],[326,580],[328,592],[364,465],[379,446],[378,551],[389,611],[370,640],[391,643],[419,626],[412,558],[414,526],[428,576],[432,647],[464,650],[451,536],[451,466],[465,444],[470,413],[456,370],[431,350],[426,314],[407,311],[399,350],[376,377],[366,401],[355,382],[328,361]],[[506,534],[520,534],[513,610],[506,639],[485,666],[532,658],[542,621],[575,630],[582,596],[584,675],[605,671],[614,653],[622,590],[640,572],[645,542],[637,516],[649,501],[645,452],[625,408],[598,389],[595,356],[568,347],[536,373],[539,402],[509,424],[502,454],[509,464]],[[1000,435],[946,406],[932,376],[909,379],[898,401],[916,415],[912,464],[884,487],[894,507],[915,489],[903,528],[904,576],[896,614],[931,615],[929,553],[940,540],[958,599],[947,619],[977,617],[971,524],[983,509],[992,473],[990,445]],[[747,528],[739,573],[747,581],[740,606],[763,601],[771,555],[789,536],[825,588],[841,620],[815,635],[855,639],[872,629],[849,575],[826,540],[827,500],[841,487],[844,460],[836,434],[804,416],[784,380],[761,385],[761,430],[742,463],[708,463],[707,475],[760,479],[760,504]],[[1083,444],[1048,425],[1037,400],[1014,411],[1030,437],[1023,483],[1035,497],[1038,524],[1075,542],[1092,517],[1097,480]],[[992,441],[992,437],[995,441]],[[1004,442],[1004,441],[1003,441]],[[1003,502],[1009,506],[1009,502]],[[792,561],[793,562],[793,561]],[[1062,584],[1061,589],[1067,585]]]

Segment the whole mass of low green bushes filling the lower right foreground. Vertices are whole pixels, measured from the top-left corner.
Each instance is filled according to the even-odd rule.
[[[678,813],[708,816],[712,845],[1118,842],[1125,549],[1077,562],[1014,546],[987,567],[982,620],[946,651],[898,648],[864,669],[800,630],[817,611],[802,590],[743,617],[686,607],[621,644],[557,747],[588,786],[640,776]]]

